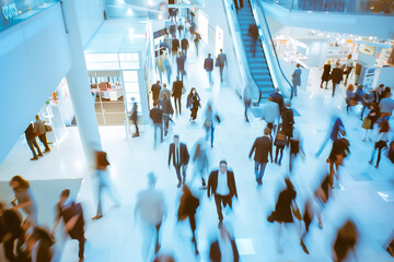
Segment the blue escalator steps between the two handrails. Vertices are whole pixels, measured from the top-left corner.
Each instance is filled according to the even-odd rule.
[[[242,40],[246,51],[247,62],[251,69],[251,74],[256,82],[260,94],[258,99],[259,102],[262,98],[267,98],[270,94],[274,93],[274,83],[260,41],[257,41],[255,57],[253,57],[251,51],[251,40],[247,32],[250,25],[256,22],[254,20],[248,0],[244,0],[243,3],[243,9],[237,11],[237,19],[241,27]]]

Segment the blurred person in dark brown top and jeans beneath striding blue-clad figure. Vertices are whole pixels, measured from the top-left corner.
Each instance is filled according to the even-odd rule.
[[[327,158],[327,163],[329,164],[329,177],[332,181],[332,188],[334,184],[334,177],[336,178],[336,181],[338,181],[339,179],[339,166],[343,166],[345,157],[350,154],[349,146],[349,141],[345,138],[338,139],[333,143],[333,148]]]

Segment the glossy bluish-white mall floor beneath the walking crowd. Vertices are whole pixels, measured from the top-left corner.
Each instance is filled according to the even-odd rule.
[[[320,158],[314,154],[326,135],[333,110],[338,110],[345,122],[351,155],[340,168],[340,189],[334,190],[333,198],[323,213],[324,228],[318,229],[315,221],[312,223],[310,236],[305,241],[311,254],[304,254],[299,245],[298,223],[283,231],[283,253],[280,254],[277,251],[278,225],[269,224],[266,217],[273,211],[277,194],[283,187],[283,177],[288,170],[288,152],[285,152],[281,167],[268,164],[264,186],[257,188],[254,163],[247,156],[255,138],[262,135],[265,123],[252,116],[251,123],[244,121],[242,100],[235,96],[228,83],[220,85],[218,72],[215,72],[213,87],[208,87],[207,75],[202,72],[202,56],[196,58],[194,50],[190,50],[186,86],[188,90],[192,86],[197,87],[201,96],[202,109],[198,112],[197,124],[188,123],[189,111],[183,104],[183,115],[175,118],[176,126],[155,151],[152,128],[149,126],[144,127],[141,136],[137,139],[126,139],[124,127],[100,129],[103,147],[108,152],[112,163],[111,176],[114,187],[121,200],[121,206],[113,209],[107,199],[104,218],[101,221],[90,221],[95,214],[96,206],[94,172],[84,163],[76,128],[70,128],[66,140],[58,147],[54,146],[53,152],[38,162],[28,160],[28,147],[23,141],[20,142],[0,166],[0,179],[8,180],[16,174],[31,180],[82,177],[78,200],[83,203],[85,212],[85,261],[142,261],[142,231],[140,223],[134,217],[134,206],[137,192],[146,188],[146,175],[154,171],[158,176],[157,188],[164,192],[169,209],[162,226],[162,251],[172,253],[176,261],[181,262],[209,261],[209,242],[218,230],[215,202],[207,199],[206,191],[199,190],[200,184],[196,180],[193,189],[200,196],[201,203],[197,212],[200,257],[196,258],[188,222],[176,223],[181,190],[176,188],[174,169],[167,168],[167,150],[173,133],[178,133],[188,148],[205,134],[201,128],[201,112],[207,100],[212,98],[223,121],[216,128],[215,147],[210,151],[211,167],[216,168],[220,159],[227,159],[235,174],[239,200],[234,203],[233,212],[224,215],[224,224],[234,234],[242,261],[332,261],[336,230],[347,217],[354,218],[359,229],[360,238],[356,249],[358,261],[391,261],[382,246],[393,230],[393,164],[386,157],[381,160],[379,169],[368,164],[373,143],[361,142],[363,132],[356,110],[348,116],[343,114],[343,94],[338,92],[333,99],[331,91],[320,90],[320,72],[313,71],[308,90],[299,91],[299,96],[293,99],[293,107],[301,115],[296,117],[296,123],[306,154],[304,159],[299,159],[291,177],[301,209],[305,199],[312,195],[321,170],[327,168],[325,159],[331,145],[327,145]],[[187,177],[190,178],[192,175],[193,165],[188,168]],[[35,193],[43,194],[43,191],[44,189],[40,189]],[[51,227],[50,224],[48,226]],[[78,261],[77,253],[77,242],[67,241],[62,261]],[[351,257],[349,261],[355,261],[355,258]]]

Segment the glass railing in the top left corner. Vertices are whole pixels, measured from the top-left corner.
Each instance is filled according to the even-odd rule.
[[[25,21],[59,0],[0,0],[0,32]]]

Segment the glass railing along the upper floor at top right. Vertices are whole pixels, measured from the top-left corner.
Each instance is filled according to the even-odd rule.
[[[289,10],[394,15],[394,0],[259,0]]]

